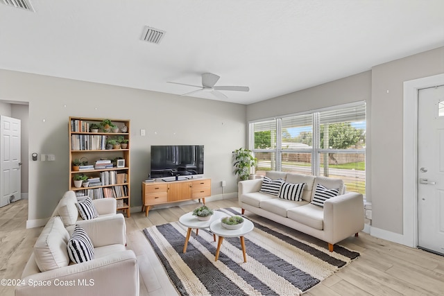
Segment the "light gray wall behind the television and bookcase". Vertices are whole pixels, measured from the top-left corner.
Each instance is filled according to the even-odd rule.
[[[68,189],[69,116],[131,120],[131,207],[142,205],[151,145],[205,145],[212,195],[237,195],[232,150],[246,145],[245,105],[6,70],[0,70],[0,100],[29,102],[26,157],[34,152],[56,156],[55,162],[29,162],[28,222],[51,216]]]

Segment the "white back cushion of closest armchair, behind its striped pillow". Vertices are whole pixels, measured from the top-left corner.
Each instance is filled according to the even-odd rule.
[[[53,270],[69,264],[68,241],[69,233],[62,218],[55,216],[49,219],[34,245],[35,263],[40,271]]]

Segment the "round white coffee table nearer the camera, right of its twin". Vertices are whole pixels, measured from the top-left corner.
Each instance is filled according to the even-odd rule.
[[[227,216],[227,215],[223,215]],[[223,217],[222,217],[223,218]],[[244,218],[244,225],[239,229],[226,229],[222,226],[221,219],[214,220],[213,223],[210,225],[210,231],[213,234],[216,234],[219,236],[219,241],[217,242],[217,250],[216,250],[216,256],[214,258],[214,261],[217,261],[219,259],[219,251],[221,250],[221,245],[224,237],[236,237],[239,236],[241,238],[241,247],[242,247],[242,253],[244,254],[244,262],[247,261],[247,254],[245,250],[245,241],[244,241],[244,235],[248,234],[248,232],[251,232],[255,228],[255,225],[253,225],[253,222],[250,220],[247,220]]]

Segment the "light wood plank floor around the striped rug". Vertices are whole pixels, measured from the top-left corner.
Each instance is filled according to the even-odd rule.
[[[207,202],[209,207],[237,207],[237,199]],[[137,255],[140,295],[178,295],[157,260],[142,229],[177,221],[196,204],[153,209],[126,218],[128,248]],[[0,208],[0,278],[18,279],[42,227],[26,229],[28,202],[20,200]],[[262,219],[246,212],[247,216]],[[284,229],[311,242],[317,240],[277,223],[262,219],[268,227]],[[339,270],[304,295],[444,295],[444,257],[384,241],[365,233],[350,236],[341,245],[361,252],[350,265]],[[248,250],[247,250],[248,253]],[[14,288],[0,286],[0,295],[14,295]]]

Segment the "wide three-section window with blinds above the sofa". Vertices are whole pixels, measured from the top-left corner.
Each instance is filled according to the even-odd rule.
[[[350,104],[250,123],[257,175],[284,171],[336,177],[366,191],[366,105]]]

